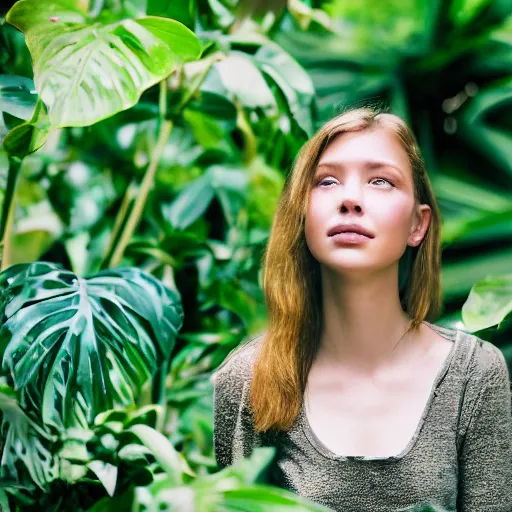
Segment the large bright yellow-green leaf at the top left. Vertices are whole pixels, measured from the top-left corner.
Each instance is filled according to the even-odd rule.
[[[88,126],[130,108],[201,52],[194,33],[177,21],[94,22],[72,0],[20,0],[7,21],[25,34],[54,128]]]

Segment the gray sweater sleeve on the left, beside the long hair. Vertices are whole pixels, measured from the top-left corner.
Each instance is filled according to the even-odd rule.
[[[261,434],[254,430],[248,406],[250,350],[238,350],[213,375],[213,446],[220,469],[261,446]]]

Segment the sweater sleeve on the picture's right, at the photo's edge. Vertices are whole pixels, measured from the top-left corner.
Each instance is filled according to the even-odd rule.
[[[460,512],[512,511],[512,395],[502,352],[482,345],[481,378],[459,456]]]

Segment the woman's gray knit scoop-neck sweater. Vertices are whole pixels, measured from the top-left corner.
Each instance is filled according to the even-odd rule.
[[[315,437],[304,404],[288,431],[254,432],[248,392],[258,336],[213,375],[219,467],[256,446],[275,446],[271,483],[333,510],[393,512],[429,503],[443,511],[512,512],[512,399],[503,354],[465,331],[425,323],[453,346],[402,453],[337,456]]]

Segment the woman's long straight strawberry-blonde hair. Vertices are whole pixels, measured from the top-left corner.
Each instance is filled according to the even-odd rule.
[[[334,137],[385,126],[407,152],[415,200],[432,209],[426,235],[400,258],[400,301],[409,330],[440,313],[441,216],[411,129],[398,116],[364,107],[326,122],[300,150],[274,214],[263,254],[263,292],[268,328],[254,361],[250,404],[257,432],[289,429],[300,412],[322,328],[320,264],[305,240],[304,221],[316,166]],[[402,261],[403,260],[403,261]],[[405,262],[405,263],[404,263]],[[404,279],[405,276],[405,279]]]

